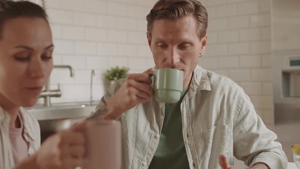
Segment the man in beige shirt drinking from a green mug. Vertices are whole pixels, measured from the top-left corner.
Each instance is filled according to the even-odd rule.
[[[117,81],[90,118],[121,120],[123,168],[286,168],[276,134],[256,115],[229,78],[197,65],[207,42],[207,12],[196,0],[160,0],[147,15],[147,39],[156,68],[184,71],[182,98],[153,98],[144,73]],[[228,160],[228,161],[227,161]]]

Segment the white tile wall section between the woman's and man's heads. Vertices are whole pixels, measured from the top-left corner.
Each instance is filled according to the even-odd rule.
[[[67,69],[53,70],[51,89],[60,83],[62,97],[51,98],[51,102],[88,101],[92,69],[96,70],[93,97],[99,100],[109,86],[104,75],[107,69],[126,66],[130,72],[141,72],[153,67],[145,17],[155,2],[47,0],[54,64],[71,65],[75,70],[75,77],[70,77]]]

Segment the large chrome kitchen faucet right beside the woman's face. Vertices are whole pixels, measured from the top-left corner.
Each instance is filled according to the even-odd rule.
[[[58,69],[69,69],[70,70],[70,76],[74,77],[74,69],[70,65],[54,65],[54,68]],[[51,97],[61,97],[62,96],[62,91],[60,89],[60,85],[58,83],[58,89],[57,90],[50,90],[50,78],[48,79],[44,90],[41,92],[40,98],[44,98],[44,106],[51,106]]]

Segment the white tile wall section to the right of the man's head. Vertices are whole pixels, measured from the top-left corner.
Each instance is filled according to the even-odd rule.
[[[199,65],[230,77],[274,124],[271,0],[206,0],[208,46]]]

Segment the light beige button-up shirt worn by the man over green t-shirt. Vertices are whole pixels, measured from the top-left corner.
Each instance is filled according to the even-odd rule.
[[[96,110],[123,82],[110,87]],[[148,168],[159,144],[164,111],[164,104],[152,98],[122,115],[124,169]],[[246,165],[263,162],[272,169],[287,167],[276,134],[266,128],[249,97],[229,78],[197,66],[181,114],[190,168],[220,168],[220,154],[226,155],[230,164],[235,156]]]

